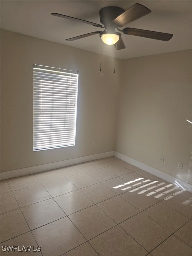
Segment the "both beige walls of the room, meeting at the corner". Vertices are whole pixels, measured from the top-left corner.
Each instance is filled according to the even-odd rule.
[[[114,75],[103,56],[101,77],[98,54],[1,30],[1,172],[115,150],[191,183],[191,59],[117,60]],[[79,71],[76,146],[32,151],[34,63]]]

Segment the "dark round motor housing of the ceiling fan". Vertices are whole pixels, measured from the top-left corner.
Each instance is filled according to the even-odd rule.
[[[118,25],[115,23],[112,23],[112,21],[117,18],[119,15],[121,15],[125,10],[121,7],[117,6],[107,6],[102,8],[99,11],[100,16],[100,22],[105,26],[113,26],[113,28],[117,28]]]

